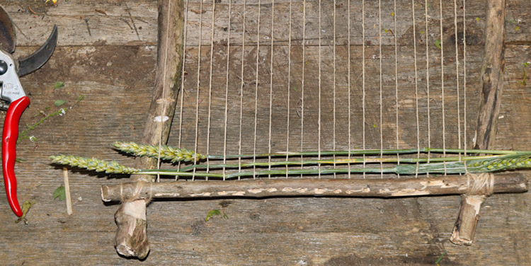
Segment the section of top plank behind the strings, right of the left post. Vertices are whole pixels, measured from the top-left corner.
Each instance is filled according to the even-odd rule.
[[[243,1],[232,1],[233,16],[231,19],[231,43],[234,45],[241,44],[241,33],[243,32]],[[248,44],[256,45],[258,35],[258,1],[246,1],[246,42]],[[458,3],[458,28],[462,28],[462,3]],[[529,31],[523,27],[523,23],[531,16],[529,12],[529,3],[514,1],[508,3],[508,42],[526,42],[529,40]],[[292,39],[295,42],[301,42],[302,24],[303,24],[303,2],[292,1]],[[323,45],[331,45],[333,42],[333,1],[322,1],[321,3],[321,42]],[[486,13],[484,12],[485,1],[469,1],[467,2],[467,28],[472,32],[479,31],[479,34],[484,35],[484,23],[486,21]],[[204,1],[202,4],[202,12],[200,12],[200,2],[190,1],[188,4],[188,25],[189,40],[191,45],[198,45],[200,24],[202,27],[203,44],[209,43],[212,31],[212,1]],[[443,2],[442,19],[445,32],[454,30],[454,5],[453,1]],[[527,9],[526,9],[527,8]],[[214,40],[215,42],[227,42],[227,30],[229,30],[229,16],[227,15],[229,9],[228,1],[222,1],[216,4],[215,20],[214,20]],[[270,42],[271,36],[271,1],[261,1],[260,17],[260,35],[258,40],[264,45]],[[286,42],[289,37],[287,26],[289,23],[288,13],[290,11],[290,1],[275,1],[275,41]],[[413,40],[412,34],[412,11],[411,1],[400,0],[396,1],[396,13],[394,12],[394,1],[382,1],[382,43],[383,45],[392,45],[394,43],[393,35],[401,36],[402,45],[411,45]],[[433,34],[431,43],[438,39],[439,35],[439,20],[440,20],[439,1],[428,1],[428,33]],[[393,14],[392,14],[393,13]],[[394,32],[394,16],[396,15],[396,33]],[[365,37],[366,44],[377,45],[378,42],[378,3],[367,1],[365,2]],[[423,35],[421,31],[425,28],[425,10],[424,2],[416,1],[415,5],[415,19],[417,37]],[[200,21],[202,23],[200,23]],[[339,42],[346,42],[348,36],[348,9],[346,1],[336,1],[336,37]],[[319,2],[306,1],[306,37],[307,45],[318,45],[319,40]],[[362,43],[362,2],[353,1],[350,3],[350,23],[351,23],[351,38],[352,43],[360,45]],[[510,25],[510,26],[509,26]],[[519,26],[517,29],[516,27]],[[392,30],[389,31],[389,29]],[[385,31],[387,30],[387,31]],[[477,42],[481,42],[481,38]],[[473,40],[468,40],[469,42]],[[450,43],[449,43],[450,44]],[[452,44],[450,44],[452,45]]]

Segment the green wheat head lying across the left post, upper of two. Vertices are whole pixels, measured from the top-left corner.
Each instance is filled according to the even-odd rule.
[[[158,145],[136,144],[135,142],[116,141],[115,143],[113,143],[113,146],[115,147],[115,149],[126,152],[127,154],[159,158]],[[196,154],[194,151],[188,149],[178,149],[166,145],[161,145],[160,156],[162,160],[171,161],[171,163],[176,163],[178,161],[193,162],[207,158],[207,156],[205,155]]]

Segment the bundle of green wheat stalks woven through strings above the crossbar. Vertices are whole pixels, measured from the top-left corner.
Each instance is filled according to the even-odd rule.
[[[72,155],[50,156],[52,163],[96,170],[96,172],[114,174],[144,174],[144,175],[173,175],[181,177],[205,177],[234,179],[257,175],[327,175],[333,173],[395,173],[398,175],[430,174],[464,174],[489,173],[503,170],[531,168],[531,151],[495,151],[469,149],[367,149],[350,151],[303,151],[274,154],[233,154],[233,155],[204,155],[189,149],[180,149],[166,145],[136,144],[135,142],[115,142],[113,147],[118,151],[133,156],[148,156],[160,158],[170,163],[188,163],[180,169],[137,169],[122,166],[112,161],[98,158],[86,158]],[[404,155],[413,154],[413,158]],[[423,156],[420,156],[420,155]],[[437,156],[434,156],[437,155]],[[450,155],[450,156],[448,156]],[[333,156],[333,158],[314,159],[308,157]],[[338,156],[338,158],[336,158]],[[347,156],[347,158],[344,158]],[[362,156],[362,158],[352,158]],[[365,157],[365,156],[371,156]],[[375,158],[379,156],[379,158]],[[385,157],[384,157],[385,156]],[[270,158],[294,158],[293,160],[271,161]],[[296,157],[296,158],[295,158]],[[404,158],[402,158],[404,157]],[[251,162],[213,163],[227,159],[253,158]],[[268,161],[256,161],[256,158],[269,158]],[[305,159],[308,158],[308,159]],[[202,163],[206,160],[209,163]],[[350,167],[351,165],[359,167]],[[379,166],[375,167],[375,164]],[[384,166],[385,164],[385,166]],[[288,168],[278,166],[324,166],[333,168]],[[392,165],[392,166],[389,166]],[[267,168],[266,168],[267,167]],[[272,168],[273,167],[273,168]],[[250,168],[252,170],[250,170]],[[215,169],[223,169],[218,173]],[[225,170],[233,169],[230,173]],[[236,169],[236,170],[234,170]]]

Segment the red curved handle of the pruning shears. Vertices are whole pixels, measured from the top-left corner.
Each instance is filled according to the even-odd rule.
[[[22,210],[16,197],[16,141],[18,139],[18,122],[25,108],[30,105],[30,98],[24,96],[9,104],[6,120],[4,121],[4,133],[2,134],[2,170],[4,171],[4,184],[9,206],[16,214],[22,216]]]

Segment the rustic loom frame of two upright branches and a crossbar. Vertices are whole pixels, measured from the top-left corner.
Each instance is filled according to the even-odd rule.
[[[481,105],[476,127],[474,149],[488,149],[496,136],[505,62],[505,0],[487,0],[487,22],[483,65],[481,68]],[[159,1],[159,42],[156,85],[149,108],[144,137],[145,144],[166,143],[176,108],[176,97],[182,83],[183,1]],[[163,54],[163,51],[165,52]],[[169,58],[168,58],[169,57]],[[166,89],[167,88],[167,89]],[[169,120],[155,122],[156,116]],[[157,160],[138,158],[136,168],[155,168]],[[196,181],[153,183],[152,176],[133,175],[130,183],[102,187],[104,201],[122,201],[115,214],[118,231],[115,247],[120,255],[145,258],[147,241],[146,205],[152,198],[205,197],[271,197],[271,196],[344,196],[404,197],[418,195],[462,195],[459,215],[451,241],[470,245],[474,239],[481,204],[493,192],[525,192],[527,178],[520,173],[485,175],[490,189],[472,190],[474,175],[445,176],[422,179],[364,180],[249,180],[239,182]],[[372,189],[367,189],[370,187]],[[290,188],[290,189],[287,189]],[[254,191],[253,193],[245,193]],[[339,191],[339,192],[338,192]],[[348,192],[350,191],[350,192]],[[243,194],[241,192],[244,192]]]

